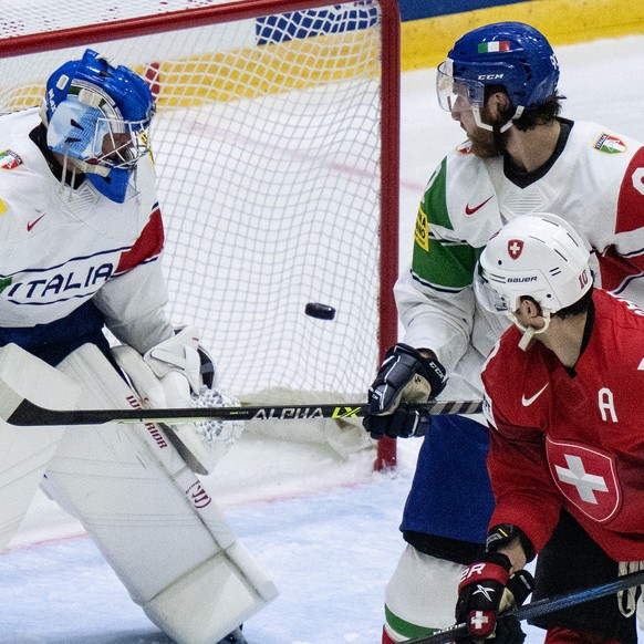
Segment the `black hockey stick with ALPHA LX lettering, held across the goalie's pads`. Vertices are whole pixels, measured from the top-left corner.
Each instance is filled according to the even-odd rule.
[[[132,397],[133,407],[138,402]],[[428,414],[476,414],[480,401],[434,401],[417,405]],[[340,405],[278,405],[249,407],[177,407],[174,409],[51,409],[21,398],[12,409],[0,405],[10,425],[103,425],[104,423],[194,423],[198,420],[305,420],[309,418],[360,418],[366,415],[364,403]]]

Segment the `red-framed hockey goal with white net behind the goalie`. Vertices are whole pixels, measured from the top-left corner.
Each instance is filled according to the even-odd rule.
[[[241,399],[364,399],[397,339],[397,2],[169,7],[9,3],[0,111],[37,106],[86,46],[146,77],[173,322],[201,330]],[[334,319],[307,315],[309,302]],[[381,442],[376,467],[393,465]]]

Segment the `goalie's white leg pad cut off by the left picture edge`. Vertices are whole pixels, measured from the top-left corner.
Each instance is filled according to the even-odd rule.
[[[73,408],[75,383],[38,357],[8,344],[0,349],[0,415],[24,398],[58,408]],[[0,420],[0,551],[20,526],[64,427],[14,427]]]

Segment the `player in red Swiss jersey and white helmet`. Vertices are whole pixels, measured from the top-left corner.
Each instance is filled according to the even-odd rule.
[[[496,507],[456,613],[476,637],[494,632],[508,575],[544,547],[547,595],[644,561],[644,312],[593,289],[590,258],[567,221],[537,214],[507,224],[479,259],[477,299],[513,326],[482,371]],[[553,613],[546,642],[635,644],[635,600]]]

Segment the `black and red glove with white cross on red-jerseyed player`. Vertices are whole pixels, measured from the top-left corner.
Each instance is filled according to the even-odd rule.
[[[456,621],[465,622],[470,638],[459,644],[486,641],[495,644],[521,644],[526,635],[519,621],[499,613],[520,606],[532,592],[534,580],[527,570],[510,577],[510,560],[501,552],[484,552],[460,578]]]

